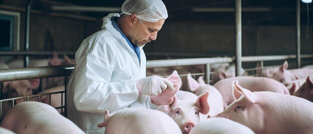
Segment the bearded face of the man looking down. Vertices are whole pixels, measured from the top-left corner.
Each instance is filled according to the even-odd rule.
[[[157,31],[159,31],[165,21],[160,19],[156,22],[149,22],[140,20],[136,17],[137,21],[131,29],[128,39],[132,44],[143,46],[147,42],[156,39]]]

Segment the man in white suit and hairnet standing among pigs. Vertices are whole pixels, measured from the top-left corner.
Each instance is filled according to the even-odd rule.
[[[67,117],[86,133],[104,133],[97,124],[103,121],[105,110],[155,109],[158,105],[151,101],[157,101],[153,100],[157,97],[150,95],[173,89],[165,78],[145,77],[142,50],[145,43],[156,39],[167,18],[164,3],[126,0],[121,11],[121,15],[103,17],[101,29],[84,39],[75,54],[76,65],[68,83]],[[173,100],[172,96],[165,99],[167,103],[162,104]]]

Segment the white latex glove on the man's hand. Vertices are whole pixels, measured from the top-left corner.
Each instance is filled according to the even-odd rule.
[[[171,90],[174,89],[172,83],[168,79],[155,75],[137,79],[136,87],[139,93],[144,95],[158,95],[167,87]]]

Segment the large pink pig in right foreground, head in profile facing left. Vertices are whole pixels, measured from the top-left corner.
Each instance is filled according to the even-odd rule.
[[[300,97],[270,91],[251,92],[232,82],[237,99],[213,117],[225,117],[255,133],[313,133],[313,103]]]

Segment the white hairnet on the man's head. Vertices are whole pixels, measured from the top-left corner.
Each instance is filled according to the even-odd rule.
[[[149,22],[167,18],[167,10],[162,0],[125,0],[121,5],[121,14],[136,14],[138,18]]]

